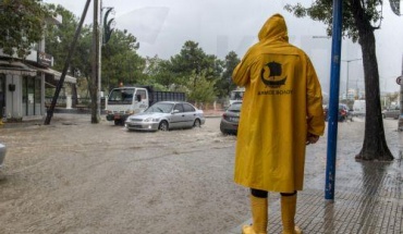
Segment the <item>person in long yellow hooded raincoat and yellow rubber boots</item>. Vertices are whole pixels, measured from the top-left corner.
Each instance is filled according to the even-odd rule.
[[[283,233],[295,226],[296,192],[303,189],[305,147],[325,131],[321,88],[307,54],[289,44],[282,15],[272,15],[233,71],[245,87],[236,141],[234,181],[251,188],[252,225],[267,233],[268,192],[281,193]]]

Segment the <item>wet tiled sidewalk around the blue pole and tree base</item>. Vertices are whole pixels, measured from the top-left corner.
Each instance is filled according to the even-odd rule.
[[[347,135],[353,131],[359,131],[361,135],[364,135],[363,122],[343,124],[340,124],[340,132],[345,131],[344,134]],[[342,134],[339,132],[333,201],[325,199],[326,159],[315,158],[323,153],[326,157],[326,143],[316,149],[307,149],[305,186],[304,190],[298,192],[295,215],[295,223],[302,227],[303,233],[403,233],[403,133],[395,128],[394,122],[390,127],[386,126],[388,146],[395,157],[393,162],[355,161],[353,153],[358,152],[362,141],[343,139],[343,132]],[[339,150],[340,148],[342,150]],[[315,157],[308,156],[309,153]],[[317,168],[320,168],[321,172],[309,174],[312,171],[318,171]],[[270,194],[268,226],[270,234],[282,232],[279,199],[278,194]],[[252,219],[246,220],[231,230],[230,234],[240,234],[242,225],[251,223]]]

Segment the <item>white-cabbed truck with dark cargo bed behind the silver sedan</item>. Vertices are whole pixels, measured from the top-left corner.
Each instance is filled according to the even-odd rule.
[[[106,101],[107,120],[123,125],[127,116],[143,112],[158,101],[185,101],[185,94],[156,91],[151,86],[113,88]]]

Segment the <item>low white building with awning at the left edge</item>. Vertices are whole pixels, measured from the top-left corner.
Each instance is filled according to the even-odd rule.
[[[0,120],[46,114],[45,88],[54,87],[61,73],[50,69],[53,57],[45,51],[45,39],[25,60],[4,54],[0,48]],[[64,83],[75,84],[76,78],[66,75]]]

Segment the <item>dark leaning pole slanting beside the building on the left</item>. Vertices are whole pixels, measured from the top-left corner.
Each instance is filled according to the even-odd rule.
[[[90,3],[90,0],[87,0],[87,2],[85,3],[82,17],[80,19],[78,27],[75,30],[73,42],[70,46],[69,54],[68,54],[68,58],[65,59],[65,62],[64,62],[63,72],[62,72],[62,75],[61,75],[60,81],[58,83],[58,86],[56,87],[54,96],[52,98],[52,102],[50,104],[50,109],[47,112],[47,116],[45,119],[44,125],[49,125],[50,124],[50,120],[53,116],[54,106],[56,106],[56,102],[58,101],[60,90],[61,90],[61,88],[63,86],[64,77],[65,77],[65,74],[68,73],[68,67],[69,67],[70,61],[71,61],[71,59],[72,59],[72,57],[74,54],[75,45],[77,42],[77,39],[78,39],[78,36],[80,36],[80,32],[81,32],[81,29],[83,27],[83,23],[84,23],[84,20],[85,20],[85,15],[87,14],[89,3]]]

